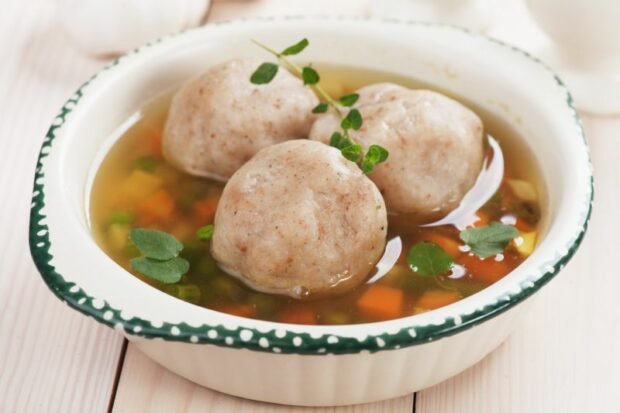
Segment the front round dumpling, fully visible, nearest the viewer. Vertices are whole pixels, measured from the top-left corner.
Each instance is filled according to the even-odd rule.
[[[211,250],[257,290],[316,297],[364,282],[386,233],[372,181],[337,149],[293,140],[261,150],[230,178]]]

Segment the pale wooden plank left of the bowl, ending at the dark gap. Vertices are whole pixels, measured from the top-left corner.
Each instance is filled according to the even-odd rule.
[[[27,245],[43,136],[101,62],[66,45],[50,2],[1,4],[0,412],[105,411],[123,340],[54,297]]]

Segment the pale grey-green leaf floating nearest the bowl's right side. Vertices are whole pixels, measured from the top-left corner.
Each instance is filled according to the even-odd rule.
[[[510,240],[517,236],[519,236],[519,231],[515,227],[501,222],[491,222],[491,224],[483,227],[468,228],[461,231],[460,234],[461,240],[480,258],[502,253]]]

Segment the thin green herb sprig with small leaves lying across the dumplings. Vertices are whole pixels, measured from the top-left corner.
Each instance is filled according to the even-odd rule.
[[[370,145],[367,151],[364,152],[362,145],[357,144],[350,136],[350,131],[359,130],[364,123],[359,109],[353,107],[357,103],[359,95],[352,93],[334,99],[321,87],[319,84],[321,76],[311,65],[300,67],[287,57],[301,53],[310,44],[308,39],[302,39],[281,52],[258,40],[252,39],[252,41],[277,58],[277,63],[261,63],[250,76],[252,83],[264,85],[271,82],[277,75],[280,66],[282,66],[291,74],[300,78],[304,85],[312,88],[321,99],[321,102],[312,109],[312,113],[325,113],[332,109],[338,115],[340,130],[332,133],[329,140],[331,146],[340,149],[342,156],[357,163],[365,174],[369,174],[375,166],[386,161],[389,156],[387,149],[379,145]]]

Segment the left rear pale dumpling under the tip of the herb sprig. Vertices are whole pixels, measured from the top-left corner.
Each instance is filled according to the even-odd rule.
[[[252,84],[259,64],[230,60],[181,87],[164,130],[166,160],[192,175],[226,179],[262,148],[308,136],[314,93],[286,70],[269,84]]]

